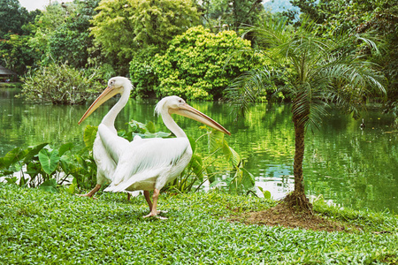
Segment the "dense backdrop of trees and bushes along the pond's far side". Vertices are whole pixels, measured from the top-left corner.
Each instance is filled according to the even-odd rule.
[[[292,4],[301,14],[298,19],[294,11],[284,13],[294,19],[293,28],[299,27],[302,16],[306,15],[314,20],[315,27],[311,30],[318,36],[338,38],[342,30],[373,34],[372,41],[378,41],[380,53],[372,54],[361,46],[356,47],[356,52],[380,65],[388,79],[388,106],[394,108],[398,98],[395,71],[398,13],[394,1],[306,0],[292,1]],[[19,74],[26,73],[30,67],[67,61],[77,69],[101,69],[106,75],[103,79],[111,75],[128,75],[129,72],[137,87],[134,96],[159,97],[176,91],[191,99],[207,100],[222,97],[222,90],[246,64],[241,64],[238,59],[235,69],[220,71],[219,66],[226,61],[224,54],[231,54],[232,49],[220,49],[209,42],[197,47],[197,43],[180,40],[181,36],[192,34],[201,24],[210,33],[223,34],[228,30],[239,33],[242,25],[258,25],[270,16],[281,16],[264,11],[261,1],[256,0],[74,0],[65,4],[51,2],[44,11],[32,12],[27,12],[16,0],[2,0],[0,5],[0,19],[7,22],[0,30],[1,64]],[[194,28],[188,34],[190,27]],[[206,38],[210,33],[204,34]],[[243,42],[232,40],[239,39],[239,35],[224,37],[230,39],[225,45],[238,43],[233,49],[240,49],[239,43]],[[253,34],[246,34],[244,38],[256,47]],[[215,40],[211,42],[218,44]],[[195,50],[189,51],[188,44]],[[195,69],[188,70],[187,65],[177,64],[180,49],[183,50],[181,60],[190,60],[189,68]],[[196,56],[198,52],[201,56]],[[203,63],[203,58],[208,61]],[[248,61],[248,57],[241,59]],[[270,65],[270,62],[264,64]],[[278,70],[284,71],[283,68]],[[219,77],[211,77],[219,73]],[[199,80],[193,82],[191,79]],[[274,82],[276,87],[285,83],[283,79]],[[270,100],[270,92],[261,95],[260,100]],[[281,96],[289,99],[286,93]]]

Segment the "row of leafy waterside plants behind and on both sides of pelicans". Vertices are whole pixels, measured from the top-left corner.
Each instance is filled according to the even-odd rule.
[[[39,187],[52,193],[66,188],[69,193],[77,189],[88,189],[96,185],[96,163],[93,158],[93,144],[97,127],[88,125],[84,130],[84,148],[73,143],[65,143],[54,148],[42,143],[31,148],[14,148],[4,157],[0,157],[0,177],[19,186]],[[142,138],[169,137],[171,133],[157,132],[156,126],[149,122],[144,125],[130,121],[126,130],[120,130],[119,136],[133,140],[135,135]],[[254,178],[244,168],[241,156],[228,146],[224,133],[206,131],[197,140],[190,139],[194,155],[187,168],[165,190],[188,193],[202,189],[204,182],[210,187],[226,187],[230,193],[248,193],[254,186]],[[208,147],[206,154],[199,154],[196,145]],[[217,160],[226,162],[227,178],[224,172],[215,170]],[[19,178],[17,178],[19,176]]]

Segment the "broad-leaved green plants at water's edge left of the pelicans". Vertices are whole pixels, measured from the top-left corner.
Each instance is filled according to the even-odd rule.
[[[70,182],[69,191],[89,188],[96,184],[96,163],[92,156],[96,127],[87,126],[84,132],[85,148],[73,151],[73,143],[51,148],[42,143],[33,148],[14,148],[0,157],[0,176],[19,186],[40,187],[57,192],[57,185]],[[20,178],[15,173],[20,172]],[[19,181],[18,181],[19,180]],[[65,182],[66,181],[66,182]]]

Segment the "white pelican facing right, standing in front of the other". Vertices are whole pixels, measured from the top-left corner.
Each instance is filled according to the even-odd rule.
[[[192,157],[188,137],[174,122],[171,114],[190,117],[218,131],[231,134],[223,126],[175,95],[162,99],[157,103],[155,110],[177,138],[139,139],[128,143],[119,156],[111,185],[104,190],[109,192],[143,190],[150,210],[149,215],[144,217],[157,216],[157,198],[160,190],[166,183],[180,175]],[[107,137],[109,130],[105,126],[100,125],[98,133],[106,145],[111,145],[113,139]],[[153,203],[149,197],[150,190],[154,190]]]

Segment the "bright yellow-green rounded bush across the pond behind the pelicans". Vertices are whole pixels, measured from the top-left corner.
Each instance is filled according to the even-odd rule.
[[[191,100],[212,100],[222,97],[229,81],[258,64],[249,52],[226,60],[241,49],[249,49],[250,42],[239,38],[234,31],[210,33],[203,27],[191,27],[169,42],[164,55],[149,57],[143,64],[139,59],[131,63],[130,74],[134,86],[145,83],[148,75],[154,80],[151,89],[157,97],[180,95]],[[225,67],[226,66],[226,67]],[[153,75],[156,78],[152,78]]]

